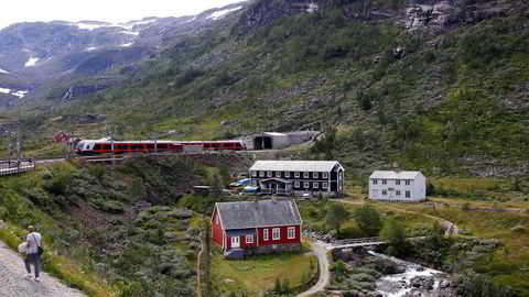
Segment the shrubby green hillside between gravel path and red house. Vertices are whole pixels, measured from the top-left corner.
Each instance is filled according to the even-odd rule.
[[[44,270],[89,296],[194,296],[202,218],[180,207],[210,167],[182,157],[55,163],[0,180],[0,240],[36,226]]]

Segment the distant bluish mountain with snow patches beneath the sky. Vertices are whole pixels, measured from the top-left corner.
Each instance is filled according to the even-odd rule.
[[[0,31],[0,108],[21,98],[69,100],[110,88],[137,72],[138,63],[155,58],[183,36],[212,29],[244,7],[236,3],[197,15],[117,24],[12,24]],[[51,91],[51,85],[60,88]]]

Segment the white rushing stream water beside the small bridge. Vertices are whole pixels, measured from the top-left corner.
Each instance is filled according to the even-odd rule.
[[[385,297],[411,296],[412,292],[420,292],[420,296],[433,297],[438,296],[440,293],[440,283],[447,282],[447,275],[443,272],[425,268],[415,263],[402,261],[385,254],[379,254],[371,251],[369,251],[368,253],[374,256],[381,257],[395,262],[399,265],[406,266],[406,271],[403,273],[384,276],[377,282],[377,292]],[[421,286],[417,288],[413,287],[411,280],[417,276],[422,276],[425,279],[429,279],[430,283],[430,279],[433,279],[433,284],[431,284],[432,286],[430,288],[428,288],[428,286]]]

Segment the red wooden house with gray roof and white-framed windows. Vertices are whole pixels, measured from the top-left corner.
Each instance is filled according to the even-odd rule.
[[[229,257],[299,251],[303,222],[295,201],[271,199],[218,202],[212,215],[212,239]]]

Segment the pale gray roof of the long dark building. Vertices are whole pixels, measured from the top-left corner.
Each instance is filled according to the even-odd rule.
[[[250,170],[328,173],[336,165],[337,161],[257,161]]]

